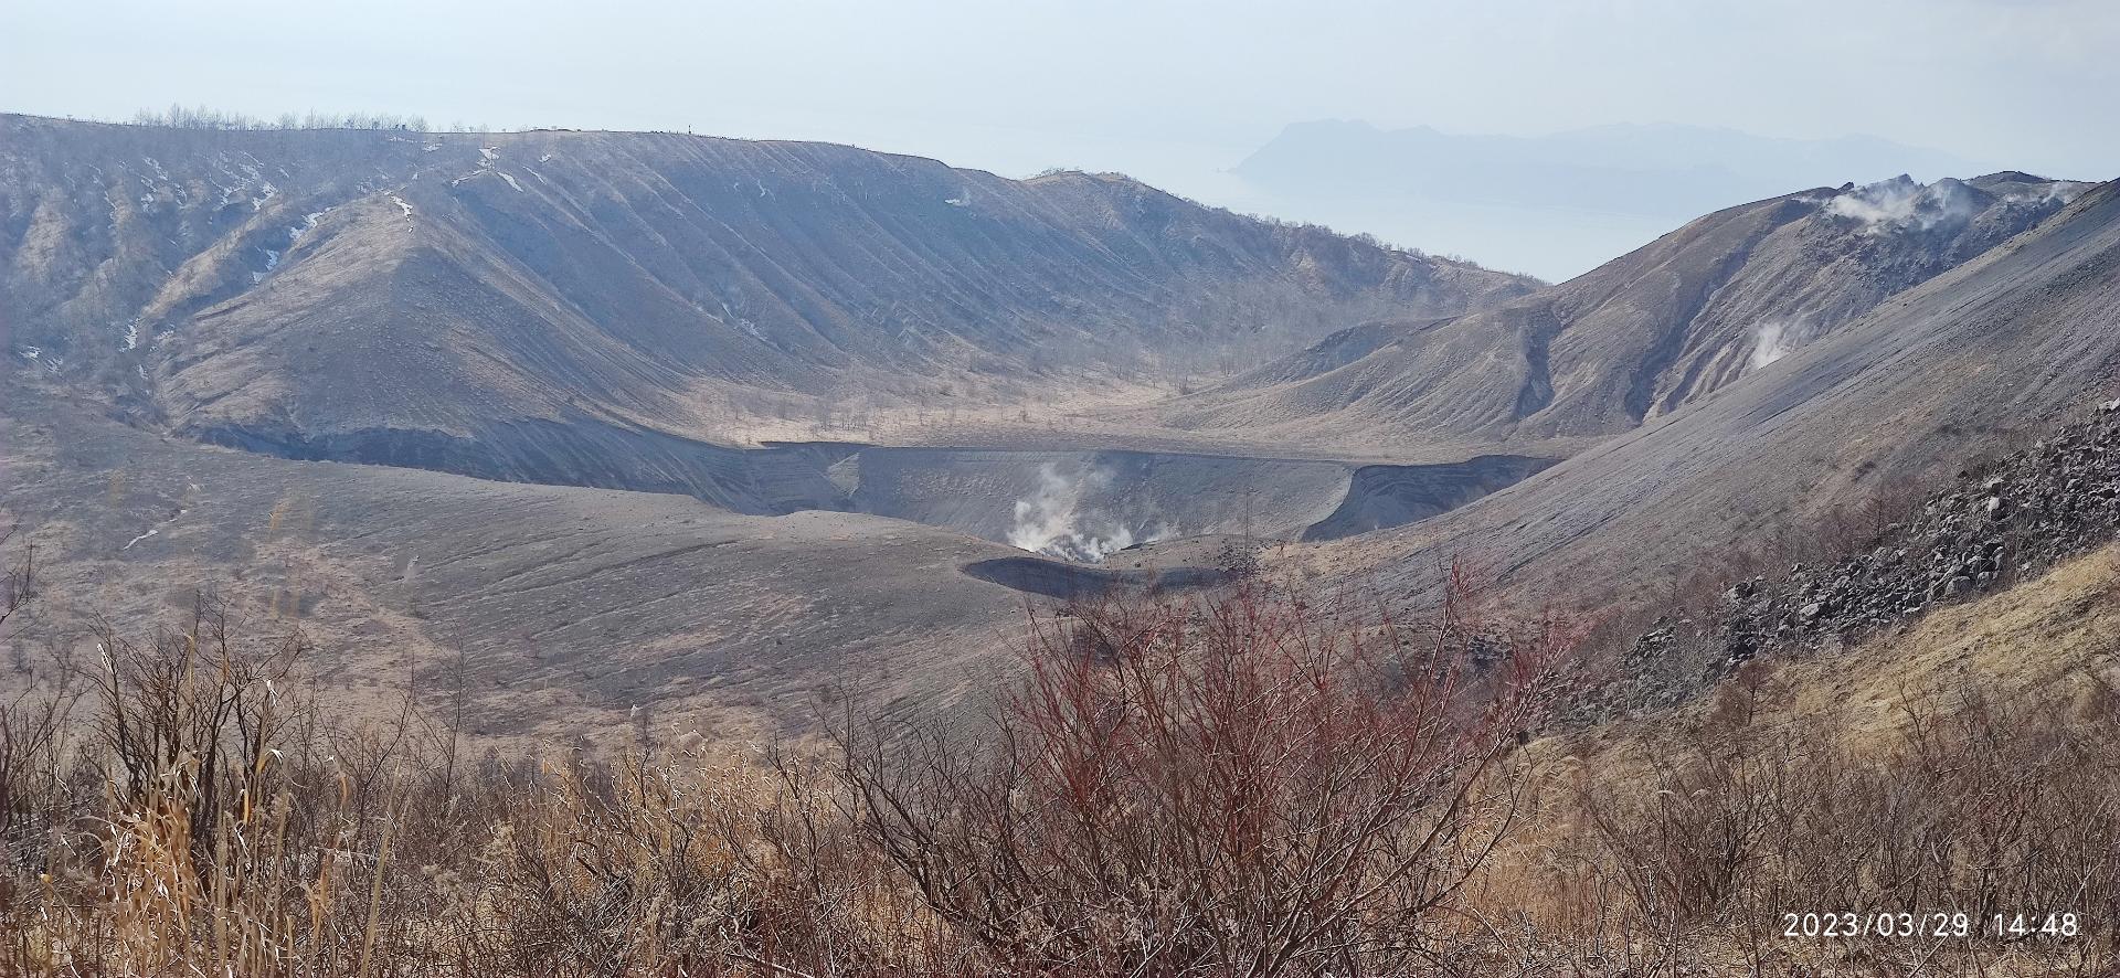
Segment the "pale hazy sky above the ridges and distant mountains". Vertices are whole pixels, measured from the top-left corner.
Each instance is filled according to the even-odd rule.
[[[1283,125],[1870,134],[2120,176],[2120,0],[0,0],[0,110],[854,142],[1179,191]]]

